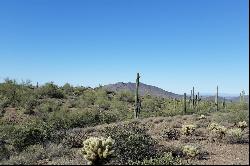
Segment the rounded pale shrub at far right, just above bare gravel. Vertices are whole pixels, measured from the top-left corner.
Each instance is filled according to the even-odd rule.
[[[226,132],[226,141],[228,143],[241,143],[243,140],[243,132],[239,128],[229,129]]]

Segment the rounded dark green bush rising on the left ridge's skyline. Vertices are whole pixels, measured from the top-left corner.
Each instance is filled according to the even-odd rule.
[[[38,94],[41,97],[50,97],[50,98],[64,98],[63,92],[58,88],[53,82],[46,83],[45,85],[39,88]]]

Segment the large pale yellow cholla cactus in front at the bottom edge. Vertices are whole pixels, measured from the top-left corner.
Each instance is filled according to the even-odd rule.
[[[114,145],[114,140],[110,137],[97,138],[91,137],[83,142],[84,147],[82,148],[82,153],[84,158],[88,160],[88,164],[102,164],[111,154],[113,154],[112,147]]]

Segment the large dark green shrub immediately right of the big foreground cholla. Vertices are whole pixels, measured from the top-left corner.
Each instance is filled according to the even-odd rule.
[[[128,161],[142,161],[156,155],[156,142],[137,122],[108,126],[106,136],[111,136],[114,144],[116,162],[128,164]]]

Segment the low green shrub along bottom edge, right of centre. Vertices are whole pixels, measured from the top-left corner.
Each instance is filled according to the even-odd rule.
[[[161,157],[144,159],[143,161],[130,162],[129,165],[182,165],[179,157],[173,157],[172,153],[164,153]]]

